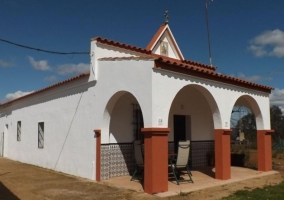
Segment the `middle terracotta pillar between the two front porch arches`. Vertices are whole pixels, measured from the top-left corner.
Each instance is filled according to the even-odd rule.
[[[231,178],[231,129],[215,129],[215,178]]]

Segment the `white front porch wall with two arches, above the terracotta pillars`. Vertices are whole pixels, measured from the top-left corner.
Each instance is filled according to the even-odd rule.
[[[237,99],[243,95],[251,96],[256,100],[257,107],[262,113],[262,122],[258,129],[270,129],[269,95],[267,93],[253,91],[238,86],[222,84],[188,75],[154,69],[153,71],[153,127],[168,126],[168,110],[176,94],[187,85],[197,85],[204,88],[203,93],[210,104],[212,116],[214,116],[215,129],[230,128],[231,111]],[[216,105],[216,106],[214,106]],[[212,110],[213,109],[213,110]],[[162,118],[163,124],[158,123]]]

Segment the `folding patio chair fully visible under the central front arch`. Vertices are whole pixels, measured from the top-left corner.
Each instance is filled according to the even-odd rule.
[[[189,152],[190,152],[190,141],[180,141],[178,144],[178,155],[177,159],[170,159],[170,168],[173,172],[173,175],[176,179],[177,184],[180,182],[192,182],[191,178],[192,174],[189,168]],[[181,171],[182,169],[186,169],[189,179],[181,179]]]

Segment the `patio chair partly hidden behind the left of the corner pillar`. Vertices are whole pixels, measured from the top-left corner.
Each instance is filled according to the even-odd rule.
[[[142,144],[141,140],[135,140],[133,142],[133,148],[134,148],[134,159],[135,159],[135,170],[134,173],[130,179],[130,181],[134,180],[134,177],[137,173],[144,173],[144,159],[142,154]],[[143,181],[143,177],[141,182]]]

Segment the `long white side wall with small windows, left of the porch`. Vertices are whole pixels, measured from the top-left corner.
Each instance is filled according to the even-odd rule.
[[[14,102],[1,110],[5,157],[92,179],[95,160],[93,83],[80,79]],[[79,85],[79,86],[78,86]],[[21,121],[21,141],[17,122]],[[38,123],[44,122],[44,148],[38,148]]]

